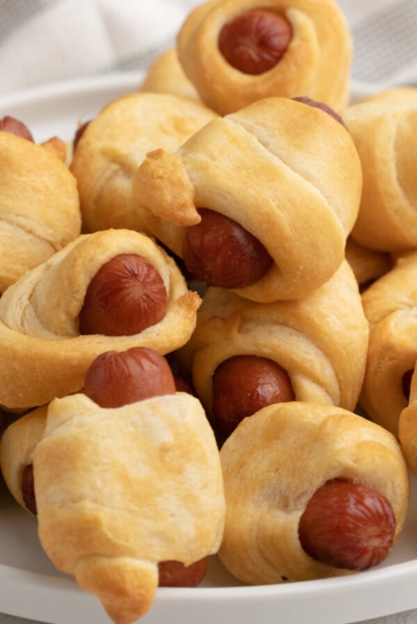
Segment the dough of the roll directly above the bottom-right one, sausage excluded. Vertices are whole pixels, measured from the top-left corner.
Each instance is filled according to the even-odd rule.
[[[368,322],[357,282],[345,261],[324,286],[299,302],[257,304],[208,288],[197,326],[177,352],[197,395],[212,414],[213,375],[235,355],[276,361],[288,373],[295,400],[354,409],[368,347]]]

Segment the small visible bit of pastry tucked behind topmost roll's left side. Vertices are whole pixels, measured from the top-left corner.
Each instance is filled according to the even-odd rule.
[[[171,93],[179,95],[180,98],[202,103],[193,84],[183,72],[175,47],[167,49],[156,57],[145,74],[140,91]]]

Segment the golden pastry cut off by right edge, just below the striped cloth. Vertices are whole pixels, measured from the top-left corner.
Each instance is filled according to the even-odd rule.
[[[363,170],[352,237],[369,249],[417,247],[416,93],[409,88],[375,95],[343,113]]]

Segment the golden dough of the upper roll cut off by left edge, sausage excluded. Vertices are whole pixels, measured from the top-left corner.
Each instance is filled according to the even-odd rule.
[[[79,235],[76,180],[51,150],[0,132],[0,293]]]

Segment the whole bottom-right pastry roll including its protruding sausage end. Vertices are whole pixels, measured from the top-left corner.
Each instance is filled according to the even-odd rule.
[[[400,537],[407,466],[395,437],[357,414],[270,405],[240,423],[220,460],[227,512],[219,556],[246,583],[347,575],[379,563]],[[385,531],[377,537],[382,524],[389,540]]]

